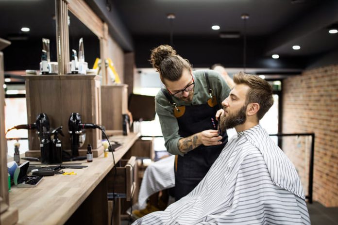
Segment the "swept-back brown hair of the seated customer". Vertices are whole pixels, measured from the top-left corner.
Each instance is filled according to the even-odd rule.
[[[270,83],[258,76],[239,72],[234,75],[236,84],[245,84],[250,87],[247,93],[245,104],[258,103],[258,120],[262,119],[266,112],[273,105],[273,91]]]

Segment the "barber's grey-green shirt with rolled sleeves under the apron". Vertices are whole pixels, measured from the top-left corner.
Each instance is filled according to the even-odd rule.
[[[209,94],[203,71],[208,73],[210,87],[214,92],[214,96],[217,97],[219,106],[221,108],[221,102],[229,96],[230,88],[223,80],[221,75],[214,70],[194,71],[193,76],[195,88],[193,99],[191,102],[185,102],[176,97],[172,97],[177,106],[200,105],[207,102],[209,99]],[[161,91],[159,91],[155,96],[155,110],[160,119],[162,134],[165,140],[167,151],[173,155],[183,156],[183,153],[181,153],[178,149],[178,141],[183,137],[178,134],[179,127],[177,119],[174,116],[173,106],[170,105],[168,99]]]

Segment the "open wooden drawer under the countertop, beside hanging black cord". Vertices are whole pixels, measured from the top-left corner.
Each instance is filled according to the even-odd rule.
[[[129,160],[121,160],[121,167],[116,168],[116,175],[114,168],[107,175],[108,193],[115,193],[117,197],[125,197],[130,201],[136,189],[136,167],[135,156]]]

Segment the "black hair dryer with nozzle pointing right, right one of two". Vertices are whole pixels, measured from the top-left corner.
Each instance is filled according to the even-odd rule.
[[[79,148],[84,145],[85,130],[84,129],[101,129],[96,124],[83,124],[81,116],[78,112],[72,112],[68,121],[68,129],[70,134],[70,147],[72,156],[79,156]]]

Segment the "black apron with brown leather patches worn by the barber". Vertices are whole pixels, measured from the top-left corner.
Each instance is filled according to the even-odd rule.
[[[201,105],[177,106],[166,89],[162,93],[174,106],[174,115],[179,126],[179,135],[183,138],[208,129],[217,129],[216,112],[220,109],[217,98],[212,96],[207,73],[204,73],[210,98]],[[175,200],[190,193],[203,179],[209,168],[220,155],[221,150],[228,141],[226,132],[222,134],[221,145],[200,145],[189,151],[183,157],[175,158]]]

